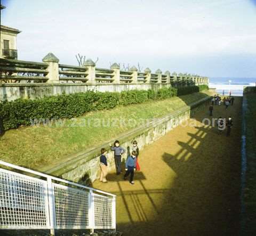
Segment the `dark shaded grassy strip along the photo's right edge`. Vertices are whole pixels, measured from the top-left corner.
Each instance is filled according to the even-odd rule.
[[[256,230],[256,94],[247,94],[248,109],[246,112],[246,189],[245,189],[245,207],[246,207],[246,225],[245,235],[255,235]]]

